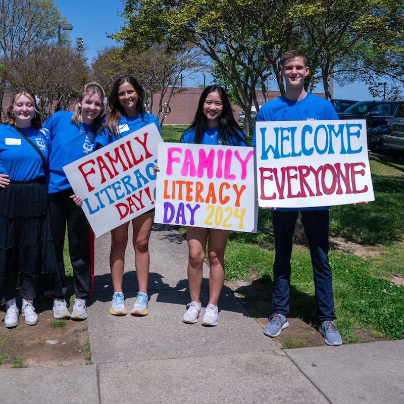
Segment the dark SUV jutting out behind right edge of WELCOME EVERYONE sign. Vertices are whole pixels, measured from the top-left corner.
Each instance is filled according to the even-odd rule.
[[[393,116],[398,101],[361,101],[338,114],[339,119],[366,119],[368,148],[383,150],[383,137],[387,134],[387,121]]]

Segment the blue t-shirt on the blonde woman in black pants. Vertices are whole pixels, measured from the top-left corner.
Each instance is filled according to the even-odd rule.
[[[70,188],[63,167],[87,156],[94,149],[96,129],[80,122],[70,122],[73,113],[58,111],[45,122],[51,132],[52,151],[47,175],[49,194]]]

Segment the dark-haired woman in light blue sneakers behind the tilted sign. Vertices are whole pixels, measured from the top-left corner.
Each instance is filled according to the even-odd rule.
[[[143,126],[155,123],[160,131],[159,121],[154,115],[145,111],[144,90],[138,81],[129,75],[120,77],[114,84],[108,100],[110,113],[107,115],[104,130],[96,139],[97,147],[106,146],[126,136]],[[161,131],[160,131],[161,132]],[[135,250],[135,268],[139,291],[131,309],[134,316],[145,316],[148,313],[148,272],[150,265],[148,239],[153,224],[154,210],[143,213],[132,219],[133,247]],[[128,243],[127,222],[111,231],[110,266],[114,294],[112,296],[110,313],[115,316],[127,314],[125,297],[122,291],[122,281],[125,264],[125,250]]]

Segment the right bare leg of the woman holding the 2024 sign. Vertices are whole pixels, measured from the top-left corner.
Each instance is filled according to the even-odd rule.
[[[229,230],[209,229],[209,303],[218,305],[224,282],[224,251],[229,238]]]

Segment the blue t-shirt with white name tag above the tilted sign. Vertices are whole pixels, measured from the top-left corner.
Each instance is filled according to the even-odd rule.
[[[110,144],[115,140],[118,140],[119,138],[124,137],[129,133],[141,129],[142,127],[147,126],[151,123],[156,124],[157,129],[159,129],[159,132],[161,134],[159,121],[154,115],[142,113],[136,115],[135,117],[122,117],[119,121],[119,125],[117,126],[120,136],[116,136],[115,133],[110,136],[107,128],[105,128],[101,133],[97,135],[95,139],[95,147],[97,148],[98,145],[106,146],[107,144]]]

